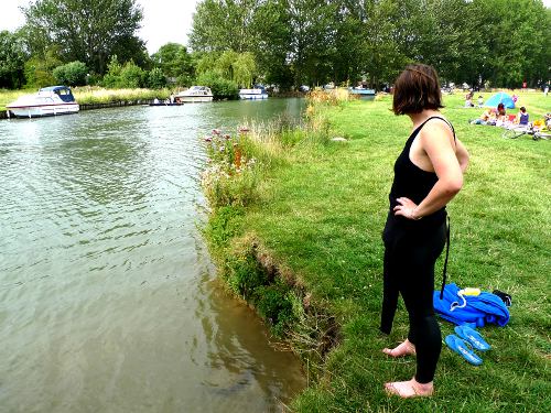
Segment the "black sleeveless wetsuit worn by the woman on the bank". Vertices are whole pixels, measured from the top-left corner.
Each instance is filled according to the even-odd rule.
[[[389,195],[390,209],[382,232],[385,259],[380,329],[386,334],[390,333],[400,293],[409,314],[408,339],[415,345],[415,379],[420,383],[433,380],[442,347],[432,296],[434,263],[446,239],[446,211],[444,207],[420,220],[412,220],[396,216],[393,208],[398,205],[396,199],[402,196],[419,205],[437,182],[434,172],[421,170],[409,157],[413,140],[431,119],[445,121],[440,117],[426,119],[411,133],[395,163],[395,180]],[[445,122],[453,131],[453,127]]]

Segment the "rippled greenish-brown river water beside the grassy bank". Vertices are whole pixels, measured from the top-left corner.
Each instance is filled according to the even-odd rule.
[[[202,137],[301,106],[0,122],[0,411],[270,412],[304,388],[199,233]]]

